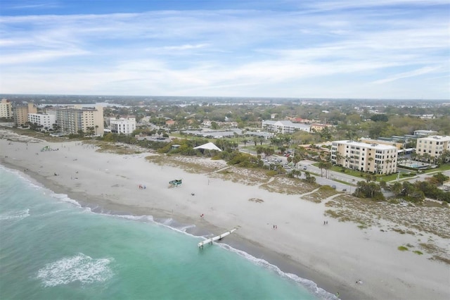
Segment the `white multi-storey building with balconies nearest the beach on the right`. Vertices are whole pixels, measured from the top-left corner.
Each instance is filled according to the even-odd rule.
[[[397,147],[355,141],[335,141],[331,162],[344,168],[375,174],[397,172]]]

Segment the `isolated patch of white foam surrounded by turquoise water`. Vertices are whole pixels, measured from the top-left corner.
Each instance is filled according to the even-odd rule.
[[[49,263],[37,273],[37,278],[42,280],[45,287],[67,285],[70,282],[104,282],[113,277],[110,268],[112,258],[94,259],[85,254],[66,257]]]

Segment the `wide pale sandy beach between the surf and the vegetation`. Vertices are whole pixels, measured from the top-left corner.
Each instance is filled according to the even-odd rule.
[[[409,245],[419,250],[420,244],[432,243],[449,259],[445,235],[450,218],[439,224],[446,226],[444,236],[418,228],[411,229],[413,234],[388,230],[409,228],[383,216],[375,225],[360,228],[324,215],[340,194],[314,203],[307,200],[310,192],[279,193],[262,187],[273,178],[261,177],[261,185],[233,182],[229,180],[233,173],[217,172],[227,168],[224,161],[192,158],[191,163],[201,161],[207,170],[189,173],[146,158],[158,154],[101,153],[97,146],[82,142],[44,142],[6,130],[0,135],[1,165],[25,173],[53,192],[68,194],[93,211],[173,218],[195,225],[189,231],[194,235],[236,227],[224,243],[312,280],[342,299],[450,299],[449,264],[430,259],[432,254],[424,250],[419,255],[397,249]],[[41,151],[44,146],[52,150]],[[183,185],[169,187],[174,179],[182,179]],[[445,216],[450,216],[448,209]]]

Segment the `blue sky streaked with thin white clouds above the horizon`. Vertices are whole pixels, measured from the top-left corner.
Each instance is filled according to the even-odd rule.
[[[450,99],[449,0],[1,0],[0,94]]]

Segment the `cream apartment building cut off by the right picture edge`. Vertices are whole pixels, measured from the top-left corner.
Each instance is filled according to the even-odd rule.
[[[416,142],[416,155],[427,160],[439,158],[442,152],[450,151],[450,137],[442,135],[431,135],[420,137]]]

